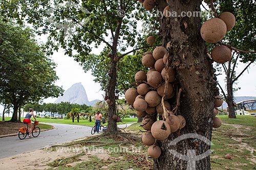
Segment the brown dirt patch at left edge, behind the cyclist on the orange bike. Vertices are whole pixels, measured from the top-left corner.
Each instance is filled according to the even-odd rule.
[[[18,134],[19,128],[26,127],[24,123],[18,122],[0,122],[0,136],[9,134]]]

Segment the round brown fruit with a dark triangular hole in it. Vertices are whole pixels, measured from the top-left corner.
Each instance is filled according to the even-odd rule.
[[[152,136],[157,140],[164,140],[170,135],[170,127],[164,120],[158,120],[151,127]]]

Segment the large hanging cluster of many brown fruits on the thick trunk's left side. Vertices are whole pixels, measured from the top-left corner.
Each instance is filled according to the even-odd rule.
[[[153,44],[154,36],[147,37],[147,43]],[[148,148],[148,155],[158,158],[161,155],[160,148],[155,144],[157,140],[166,139],[170,133],[176,132],[185,127],[185,118],[181,115],[174,115],[171,105],[166,100],[175,96],[172,82],[175,81],[176,70],[172,67],[165,67],[168,53],[165,47],[158,46],[152,52],[145,52],[142,56],[142,65],[148,68],[147,73],[138,71],[135,74],[137,88],[130,88],[125,92],[126,102],[133,106],[139,117],[144,117],[141,123],[147,132],[143,135],[142,141]],[[167,71],[166,71],[167,69]],[[169,75],[168,88],[162,106],[164,95],[165,76]],[[165,120],[156,120],[156,115],[163,115],[166,112]]]

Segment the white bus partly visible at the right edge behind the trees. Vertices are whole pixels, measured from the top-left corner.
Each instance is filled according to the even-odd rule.
[[[256,100],[246,100],[234,107],[237,115],[256,115]]]

